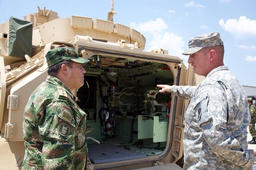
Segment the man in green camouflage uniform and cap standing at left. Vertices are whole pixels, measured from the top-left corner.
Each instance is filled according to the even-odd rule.
[[[83,64],[71,47],[46,54],[48,76],[35,89],[24,111],[23,169],[86,169],[86,113],[71,91],[84,84]]]

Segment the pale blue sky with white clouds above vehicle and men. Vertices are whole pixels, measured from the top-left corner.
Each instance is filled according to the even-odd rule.
[[[219,32],[225,45],[224,63],[242,85],[256,86],[255,0],[113,0],[114,23],[127,25],[146,37],[146,51],[167,49],[187,64],[191,37]],[[111,0],[0,0],[0,24],[10,17],[24,19],[37,7],[59,17],[78,15],[106,20]],[[0,30],[1,32],[1,30]]]

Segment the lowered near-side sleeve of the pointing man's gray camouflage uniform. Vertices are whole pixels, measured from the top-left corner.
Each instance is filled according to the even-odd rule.
[[[253,158],[252,150],[242,150],[239,141],[230,136],[231,133],[227,130],[225,91],[213,85],[205,85],[202,89],[197,94],[194,111],[197,114],[203,138],[213,151],[209,154],[215,154],[237,166],[251,165],[248,162]],[[233,126],[239,125],[234,123]]]

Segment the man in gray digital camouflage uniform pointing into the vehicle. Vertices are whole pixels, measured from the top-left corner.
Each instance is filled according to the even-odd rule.
[[[190,99],[185,113],[184,169],[251,169],[254,152],[248,150],[250,114],[244,88],[224,66],[224,46],[219,33],[189,40],[194,72],[206,76],[198,86],[157,85]]]

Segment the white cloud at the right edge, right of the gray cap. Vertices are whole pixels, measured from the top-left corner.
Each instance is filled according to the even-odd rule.
[[[222,19],[219,21],[219,25],[227,32],[235,35],[236,38],[242,38],[244,36],[256,36],[256,21],[250,20],[245,16],[236,19],[229,19],[226,22]]]

